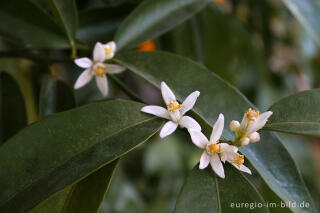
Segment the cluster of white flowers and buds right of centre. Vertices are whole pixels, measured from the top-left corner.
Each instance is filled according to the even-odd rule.
[[[268,111],[259,116],[259,111],[248,109],[243,116],[241,124],[238,121],[230,123],[230,129],[235,136],[234,140],[228,143],[220,143],[219,139],[224,128],[223,114],[219,114],[217,121],[213,125],[210,140],[201,132],[200,125],[193,118],[185,116],[185,113],[191,110],[196,103],[200,95],[199,91],[191,93],[182,104],[176,100],[175,95],[165,82],[161,83],[161,93],[167,109],[160,106],[145,106],[141,109],[142,112],[169,120],[160,131],[161,138],[173,133],[178,126],[185,127],[190,133],[192,142],[204,150],[200,158],[200,169],[206,168],[210,163],[213,171],[219,177],[224,178],[222,162],[225,163],[227,161],[240,171],[251,174],[250,169],[243,165],[244,156],[238,153],[238,147],[260,140],[257,131],[265,125],[272,112]]]

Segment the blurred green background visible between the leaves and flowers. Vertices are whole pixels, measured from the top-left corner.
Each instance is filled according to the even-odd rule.
[[[47,10],[43,1],[33,1]],[[77,38],[89,44],[79,49],[78,56],[91,54],[96,41],[112,40],[121,21],[139,3],[77,1]],[[262,110],[281,97],[320,86],[318,45],[279,0],[215,0],[193,18],[137,48],[170,51],[198,61],[239,88]],[[81,72],[70,59],[70,50],[35,50],[5,37],[0,37],[0,70],[18,81],[28,123],[39,119],[40,89],[49,77],[72,87]],[[161,103],[159,91],[143,79],[129,72],[119,79],[148,103]],[[114,81],[110,84],[108,99],[128,98]],[[103,98],[94,82],[75,91],[75,95],[78,106]],[[280,136],[320,209],[320,139]],[[185,131],[161,141],[154,136],[122,158],[100,212],[171,212],[200,154]],[[255,182],[266,196],[269,193],[270,200],[278,199],[262,180],[256,178]]]

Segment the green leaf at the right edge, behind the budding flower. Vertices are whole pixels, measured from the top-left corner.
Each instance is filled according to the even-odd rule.
[[[320,89],[290,95],[274,103],[264,129],[300,135],[320,136]]]

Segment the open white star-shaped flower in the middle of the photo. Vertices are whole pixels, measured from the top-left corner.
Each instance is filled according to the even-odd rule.
[[[145,106],[141,109],[142,112],[170,120],[162,127],[160,131],[161,138],[172,134],[178,126],[201,131],[200,125],[193,118],[184,116],[184,114],[191,110],[196,103],[196,100],[200,95],[199,91],[191,93],[182,104],[178,103],[175,95],[164,82],[161,82],[161,93],[162,98],[167,105],[167,109],[160,106]]]

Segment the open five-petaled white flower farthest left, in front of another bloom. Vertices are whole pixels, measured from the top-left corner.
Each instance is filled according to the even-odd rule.
[[[108,43],[109,44],[109,43]],[[112,45],[109,45],[112,46]],[[112,53],[113,54],[113,53]],[[110,55],[109,55],[110,56]],[[96,43],[93,50],[93,61],[89,58],[78,58],[75,59],[74,62],[81,68],[85,70],[78,77],[74,89],[79,89],[89,83],[93,76],[95,76],[97,86],[101,91],[103,96],[107,96],[108,94],[108,81],[107,81],[107,73],[117,74],[121,73],[125,70],[124,67],[119,66],[117,64],[106,64],[103,63],[105,60],[106,54],[104,47],[101,43]]]

